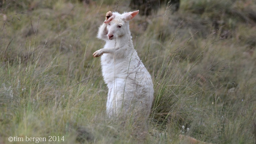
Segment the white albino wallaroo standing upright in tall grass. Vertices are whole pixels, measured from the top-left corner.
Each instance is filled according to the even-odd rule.
[[[104,48],[93,53],[101,57],[102,75],[108,86],[107,114],[110,117],[142,116],[147,118],[153,102],[151,76],[133,47],[129,20],[139,10],[120,14],[107,12],[97,38]]]

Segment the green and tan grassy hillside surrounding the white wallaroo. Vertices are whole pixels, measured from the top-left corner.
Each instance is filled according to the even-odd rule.
[[[132,11],[127,1],[0,2],[0,144],[256,143],[255,1],[181,0],[130,22],[155,91],[143,134],[106,117],[92,57],[105,13]]]

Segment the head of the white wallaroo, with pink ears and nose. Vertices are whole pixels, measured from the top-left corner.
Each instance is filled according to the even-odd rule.
[[[109,40],[117,39],[124,35],[130,36],[129,20],[134,18],[139,13],[139,10],[134,12],[118,12],[110,13],[109,18],[104,21],[107,24],[107,37]]]

